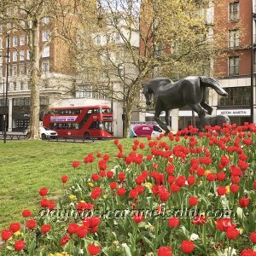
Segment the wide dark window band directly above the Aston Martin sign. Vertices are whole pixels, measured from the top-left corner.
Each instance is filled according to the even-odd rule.
[[[249,106],[251,103],[250,86],[224,88],[227,97],[218,96],[218,106]]]

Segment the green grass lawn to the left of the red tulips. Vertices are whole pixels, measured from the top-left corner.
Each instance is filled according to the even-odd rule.
[[[130,148],[133,140],[122,140]],[[124,148],[125,150],[125,148]],[[39,209],[38,190],[49,189],[49,199],[62,193],[61,176],[72,172],[90,172],[85,165],[73,170],[74,160],[84,161],[88,153],[109,154],[117,149],[112,141],[95,143],[56,143],[47,141],[12,141],[0,143],[0,230],[11,222],[20,221],[23,209],[36,213]],[[67,183],[68,186],[68,183]]]

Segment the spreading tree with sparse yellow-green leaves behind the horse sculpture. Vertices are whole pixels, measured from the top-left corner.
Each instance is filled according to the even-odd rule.
[[[70,45],[81,84],[119,102],[126,136],[131,113],[142,106],[145,79],[210,73],[218,47],[207,7],[206,0],[81,0],[68,26],[59,9],[59,33]]]

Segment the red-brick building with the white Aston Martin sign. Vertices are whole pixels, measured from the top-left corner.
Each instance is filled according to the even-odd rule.
[[[255,122],[255,0],[221,2],[215,6],[215,33],[225,31],[226,41],[224,54],[214,60],[213,75],[229,96],[215,96],[212,106],[237,125]]]

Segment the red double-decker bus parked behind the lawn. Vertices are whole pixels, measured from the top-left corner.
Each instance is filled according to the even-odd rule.
[[[50,108],[43,125],[60,137],[113,137],[113,112],[99,105]]]

